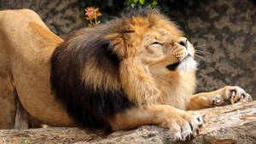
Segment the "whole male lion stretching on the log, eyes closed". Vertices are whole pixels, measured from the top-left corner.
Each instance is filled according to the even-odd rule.
[[[252,101],[238,86],[194,95],[195,49],[154,9],[82,28],[65,40],[32,10],[3,10],[0,60],[1,129],[14,128],[20,102],[51,126],[114,131],[157,124],[185,141],[204,124],[193,110]]]

